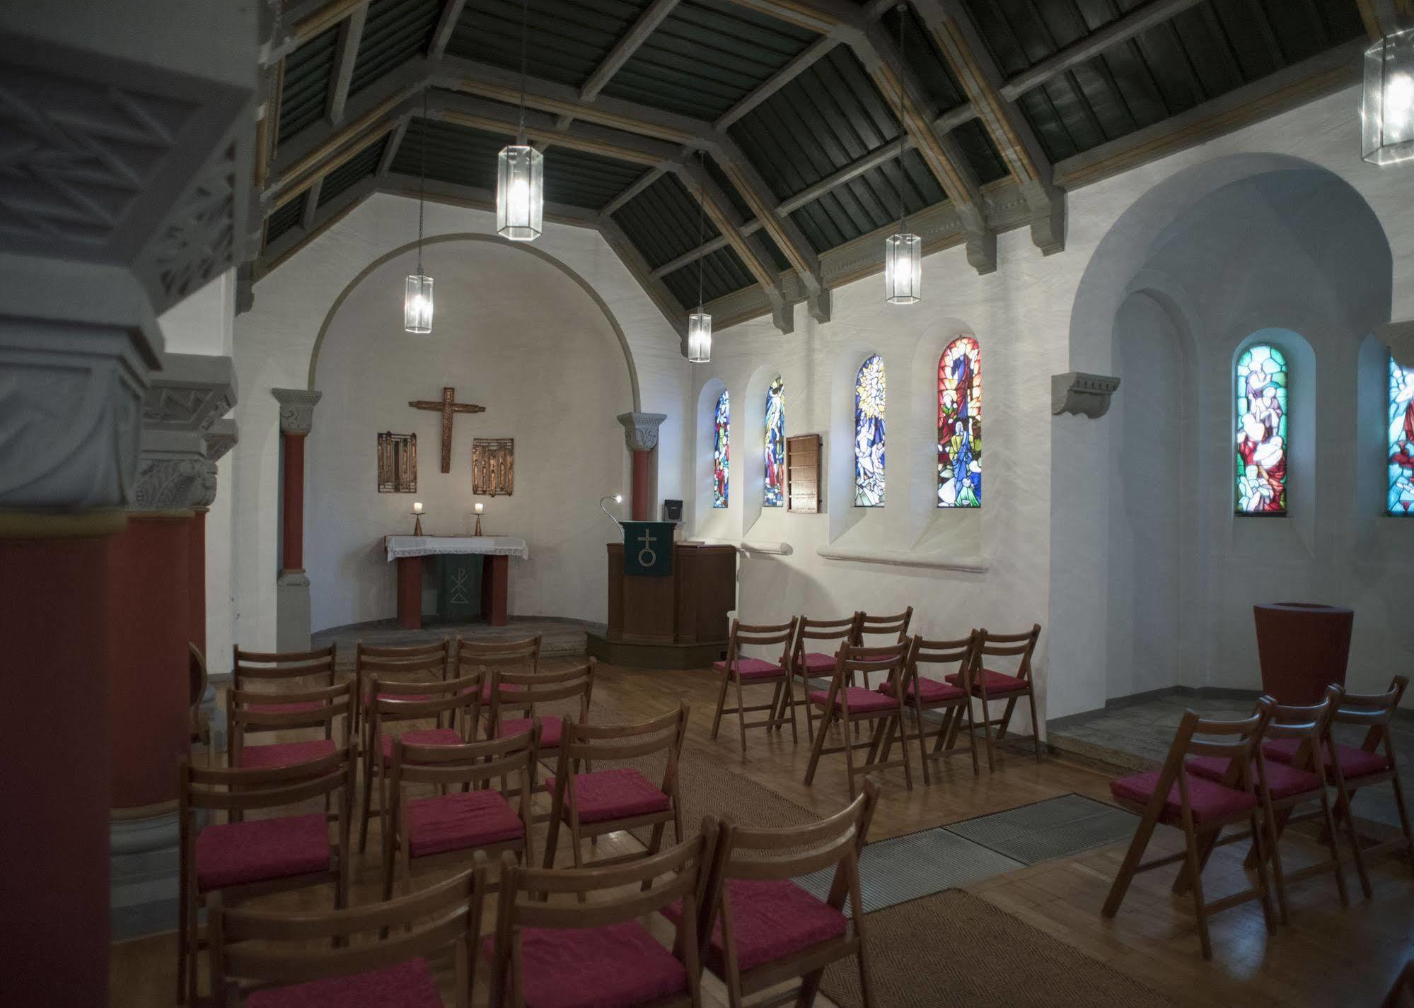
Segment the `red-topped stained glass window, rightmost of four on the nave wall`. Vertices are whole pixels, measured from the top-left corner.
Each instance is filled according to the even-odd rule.
[[[981,508],[981,351],[971,336],[937,359],[937,506]]]

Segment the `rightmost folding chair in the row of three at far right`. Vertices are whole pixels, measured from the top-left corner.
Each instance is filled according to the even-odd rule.
[[[1326,780],[1335,785],[1335,819],[1345,824],[1350,854],[1355,857],[1355,871],[1360,877],[1360,889],[1366,899],[1374,895],[1370,886],[1370,872],[1366,868],[1367,857],[1384,851],[1404,851],[1410,865],[1414,867],[1414,831],[1410,830],[1410,811],[1404,802],[1404,789],[1400,785],[1398,761],[1394,756],[1394,734],[1389,729],[1390,718],[1398,710],[1400,698],[1408,684],[1407,676],[1394,676],[1390,680],[1390,688],[1384,693],[1346,693],[1339,686],[1331,687],[1335,690],[1336,710],[1331,715],[1325,744],[1321,748],[1322,769]],[[1359,746],[1338,744],[1333,737],[1338,724],[1365,728],[1365,741]],[[1298,751],[1299,745],[1294,744],[1294,739],[1277,739],[1263,746],[1268,761],[1282,763],[1291,762]],[[1332,752],[1335,752],[1333,759]],[[1394,787],[1394,806],[1400,814],[1400,836],[1367,844],[1356,828],[1355,816],[1350,813],[1350,800],[1362,787],[1373,787],[1386,780]]]

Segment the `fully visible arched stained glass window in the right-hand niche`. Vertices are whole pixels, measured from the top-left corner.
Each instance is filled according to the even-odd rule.
[[[1237,359],[1237,513],[1287,513],[1287,358],[1266,344]]]

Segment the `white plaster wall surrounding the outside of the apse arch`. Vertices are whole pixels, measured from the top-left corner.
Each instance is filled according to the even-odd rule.
[[[416,240],[416,202],[392,195],[370,197],[262,279],[255,287],[255,307],[236,318],[235,359],[242,396],[236,407],[240,441],[232,451],[236,484],[235,639],[242,646],[274,646],[276,574],[280,564],[280,433],[277,403],[269,390],[308,386],[311,351],[334,301],[376,259]],[[427,205],[428,236],[493,232],[493,213]],[[588,283],[622,328],[638,370],[639,409],[669,416],[660,430],[658,492],[666,498],[683,496],[687,481],[682,417],[686,413],[689,376],[677,335],[597,232],[547,222],[534,247]],[[444,288],[444,284],[438,286],[438,295]],[[400,293],[392,295],[395,303],[400,303]],[[445,312],[438,318],[445,322]],[[440,389],[441,383],[436,385]],[[573,387],[561,392],[570,394]],[[322,423],[321,409],[314,411],[315,430]],[[427,450],[420,448],[423,458]],[[307,532],[312,520],[312,513],[307,512]],[[534,543],[530,546],[534,549]],[[318,594],[320,587],[315,585],[312,597],[318,598]]]

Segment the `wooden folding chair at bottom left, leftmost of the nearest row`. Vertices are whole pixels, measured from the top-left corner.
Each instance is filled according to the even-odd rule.
[[[421,892],[339,910],[228,909],[216,893],[211,905],[214,1002],[235,1008],[245,994],[269,991],[279,1004],[301,1008],[390,1004],[392,998],[400,1005],[441,1005],[427,960],[450,951],[457,971],[454,1004],[468,1008],[485,889],[482,858],[471,871]],[[375,932],[382,940],[349,947],[352,939]]]

